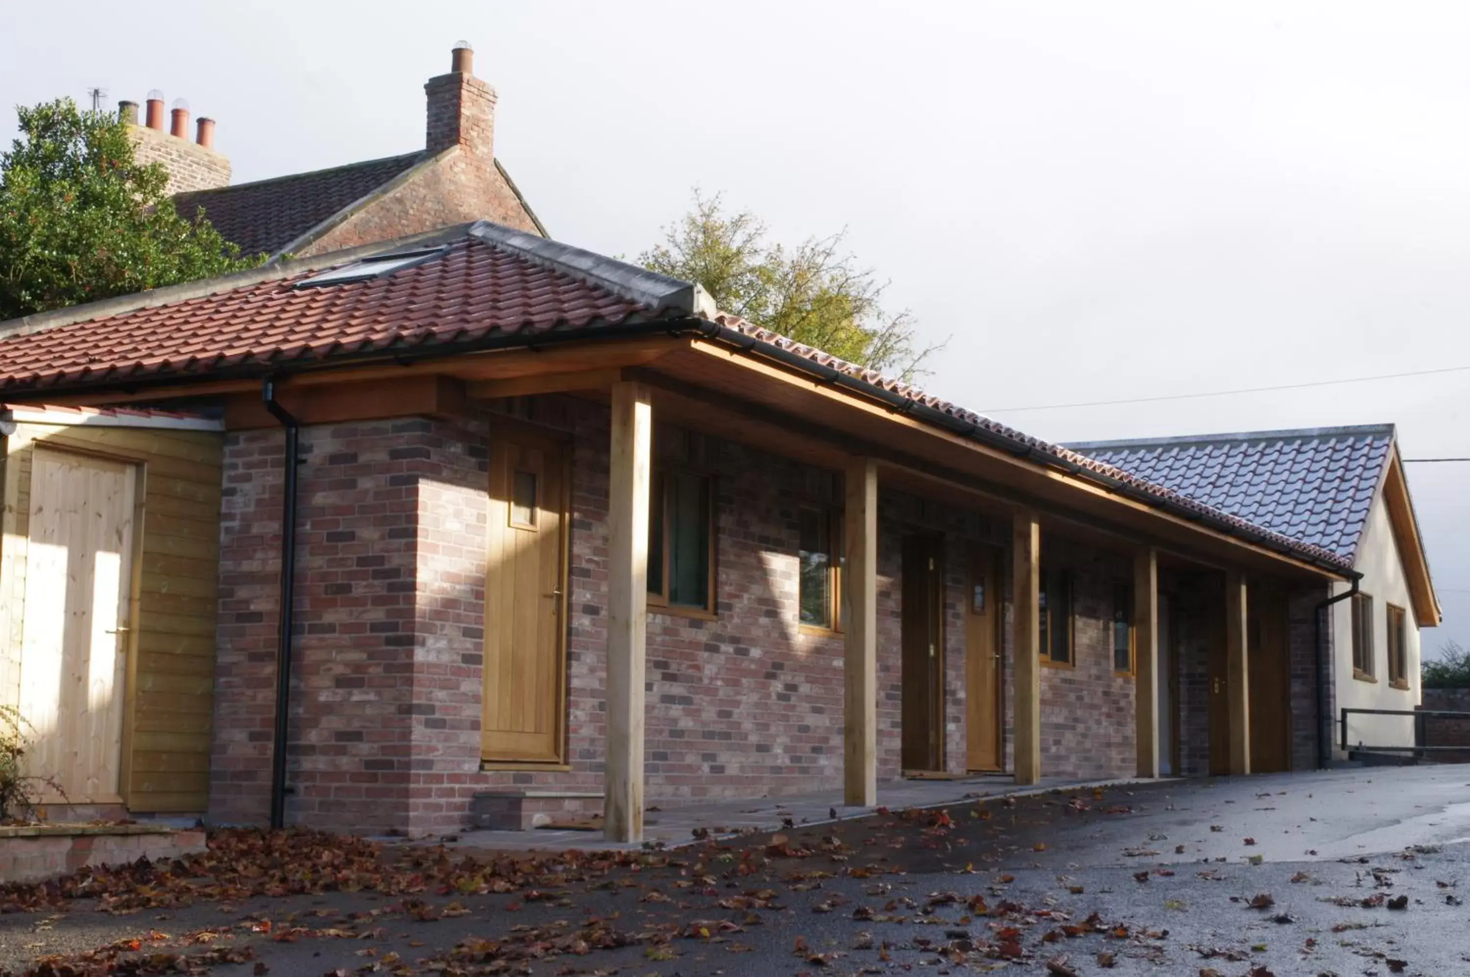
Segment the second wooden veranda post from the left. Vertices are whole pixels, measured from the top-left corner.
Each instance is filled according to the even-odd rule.
[[[842,802],[878,804],[878,463],[847,466]]]

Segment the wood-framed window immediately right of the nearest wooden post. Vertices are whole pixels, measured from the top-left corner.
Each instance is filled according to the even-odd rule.
[[[656,472],[648,502],[648,602],[713,611],[710,476],[681,469]]]

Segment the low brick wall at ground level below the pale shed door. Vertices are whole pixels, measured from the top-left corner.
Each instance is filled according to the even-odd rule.
[[[41,882],[88,865],[179,858],[204,851],[203,830],[153,824],[28,824],[0,827],[0,883]]]

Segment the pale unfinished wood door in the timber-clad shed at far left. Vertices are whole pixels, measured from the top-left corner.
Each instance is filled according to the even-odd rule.
[[[21,715],[49,802],[118,804],[137,467],[37,448],[31,463]]]

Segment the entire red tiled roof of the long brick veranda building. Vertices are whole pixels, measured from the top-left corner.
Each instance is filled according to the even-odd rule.
[[[404,257],[370,260],[385,254]],[[348,270],[315,282],[326,269]],[[1307,563],[1351,569],[1342,554],[1314,542],[722,314],[695,284],[488,222],[0,323],[0,394],[46,398],[165,379],[270,376],[365,357],[448,356],[632,329],[734,335],[742,347],[784,356],[829,382],[839,378],[844,386],[919,408],[926,423],[948,432],[1088,473],[1113,491]]]

